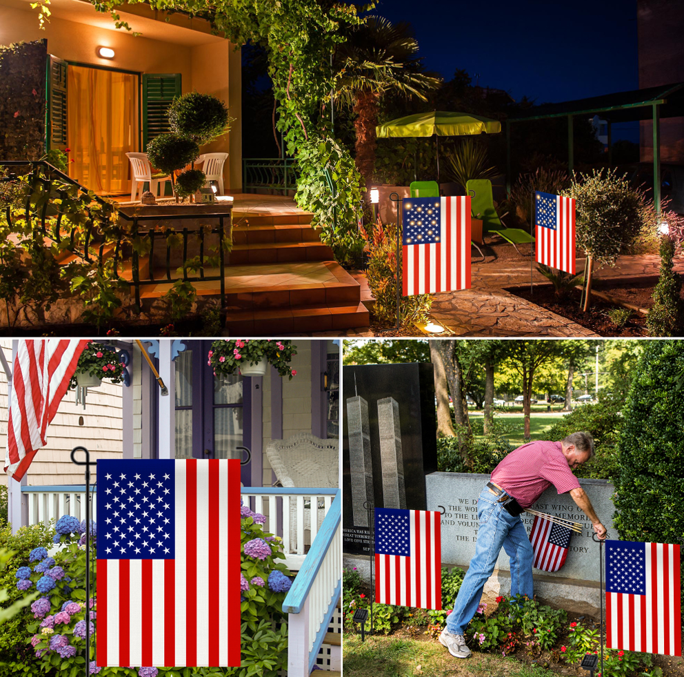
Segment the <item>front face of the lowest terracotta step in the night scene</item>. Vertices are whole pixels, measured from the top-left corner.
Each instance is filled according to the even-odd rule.
[[[243,311],[228,308],[228,335],[274,336],[317,331],[341,331],[370,324],[368,309],[359,302],[352,306],[311,306]]]

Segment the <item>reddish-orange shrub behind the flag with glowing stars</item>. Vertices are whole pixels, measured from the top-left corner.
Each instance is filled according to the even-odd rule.
[[[369,224],[361,228],[368,248],[368,286],[375,298],[373,314],[381,322],[396,322],[396,224]],[[401,248],[399,249],[401,270]],[[402,296],[399,302],[402,326],[427,322],[432,306],[430,294]]]

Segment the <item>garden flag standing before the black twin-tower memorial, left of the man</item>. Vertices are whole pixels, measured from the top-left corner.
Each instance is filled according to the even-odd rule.
[[[439,513],[376,509],[375,571],[376,602],[441,609]]]

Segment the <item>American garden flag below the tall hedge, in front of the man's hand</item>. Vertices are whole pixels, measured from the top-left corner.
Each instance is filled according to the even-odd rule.
[[[607,540],[605,552],[606,646],[681,656],[680,547]]]

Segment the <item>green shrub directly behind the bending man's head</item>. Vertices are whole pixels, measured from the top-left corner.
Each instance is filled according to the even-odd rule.
[[[620,400],[608,397],[596,404],[583,404],[563,416],[547,431],[547,438],[556,442],[582,430],[594,438],[596,455],[590,462],[574,469],[576,477],[610,480],[617,475],[617,439],[624,422],[622,405]]]

